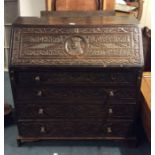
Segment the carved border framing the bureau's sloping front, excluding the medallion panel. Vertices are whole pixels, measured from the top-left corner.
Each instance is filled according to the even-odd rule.
[[[70,34],[70,35],[80,35],[80,34],[131,34],[131,54],[128,57],[122,57],[121,52],[119,57],[89,57],[85,55],[84,57],[69,57],[63,55],[60,57],[24,57],[21,55],[20,42],[21,35],[23,33],[45,33],[45,34]],[[110,65],[141,65],[142,64],[142,48],[141,48],[141,32],[137,26],[133,25],[115,25],[115,26],[103,26],[103,27],[91,27],[91,28],[14,28],[14,38],[13,38],[13,49],[12,49],[12,60],[13,65],[99,65],[99,66],[110,66]],[[22,51],[21,51],[22,52]],[[19,54],[20,53],[20,54]]]

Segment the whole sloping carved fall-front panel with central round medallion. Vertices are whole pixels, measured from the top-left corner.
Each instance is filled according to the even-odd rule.
[[[14,28],[14,65],[141,65],[136,26]]]

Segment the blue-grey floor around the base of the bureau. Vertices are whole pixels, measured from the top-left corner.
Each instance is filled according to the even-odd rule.
[[[8,73],[4,74],[4,85],[5,101],[13,105]],[[130,148],[121,143],[101,141],[42,141],[17,147],[16,136],[16,125],[5,127],[5,155],[151,155],[151,146],[144,134],[141,135],[141,142],[137,148]]]

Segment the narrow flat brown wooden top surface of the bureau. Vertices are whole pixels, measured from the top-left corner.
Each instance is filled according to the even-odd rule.
[[[44,17],[19,17],[14,22],[15,25],[108,25],[108,24],[138,24],[138,20],[134,17],[119,16],[77,16],[77,17],[61,17],[61,16],[44,16]]]

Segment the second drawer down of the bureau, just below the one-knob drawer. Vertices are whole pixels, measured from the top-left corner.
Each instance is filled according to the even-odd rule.
[[[133,88],[102,88],[102,87],[36,87],[36,88],[17,88],[17,100],[106,100],[132,99],[136,97]]]

